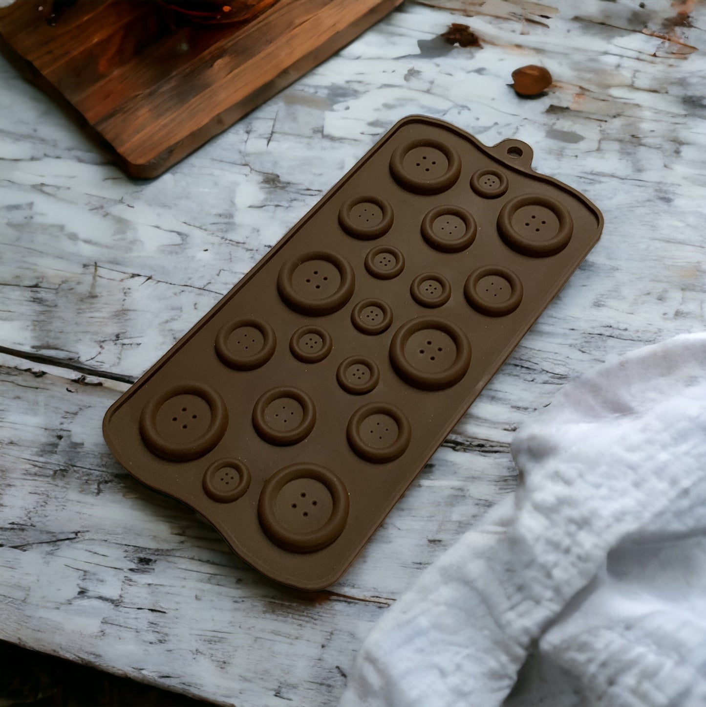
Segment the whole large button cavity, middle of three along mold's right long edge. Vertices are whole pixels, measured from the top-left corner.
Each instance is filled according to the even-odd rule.
[[[466,375],[471,365],[471,344],[451,322],[418,317],[397,329],[389,355],[395,372],[409,385],[443,390]]]

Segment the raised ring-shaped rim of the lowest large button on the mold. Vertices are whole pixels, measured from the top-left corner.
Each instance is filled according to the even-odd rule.
[[[275,503],[280,491],[290,482],[305,477],[319,481],[331,493],[333,510],[329,520],[317,530],[294,533],[282,525],[275,513]],[[348,490],[339,477],[319,464],[298,462],[289,464],[272,474],[262,486],[257,504],[260,526],[278,547],[292,552],[314,552],[328,547],[346,527],[350,501]]]

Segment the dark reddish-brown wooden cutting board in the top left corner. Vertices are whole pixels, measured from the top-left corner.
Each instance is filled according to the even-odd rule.
[[[156,177],[293,83],[401,0],[280,0],[248,23],[175,26],[154,1],[0,10],[0,50],[131,177]]]

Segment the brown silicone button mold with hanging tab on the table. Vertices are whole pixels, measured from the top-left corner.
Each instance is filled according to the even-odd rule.
[[[599,238],[517,140],[409,117],[105,416],[245,561],[338,579]]]

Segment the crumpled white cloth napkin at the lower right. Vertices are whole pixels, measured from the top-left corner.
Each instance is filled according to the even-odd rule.
[[[512,454],[517,493],[374,627],[341,707],[704,707],[706,334],[567,385]]]

